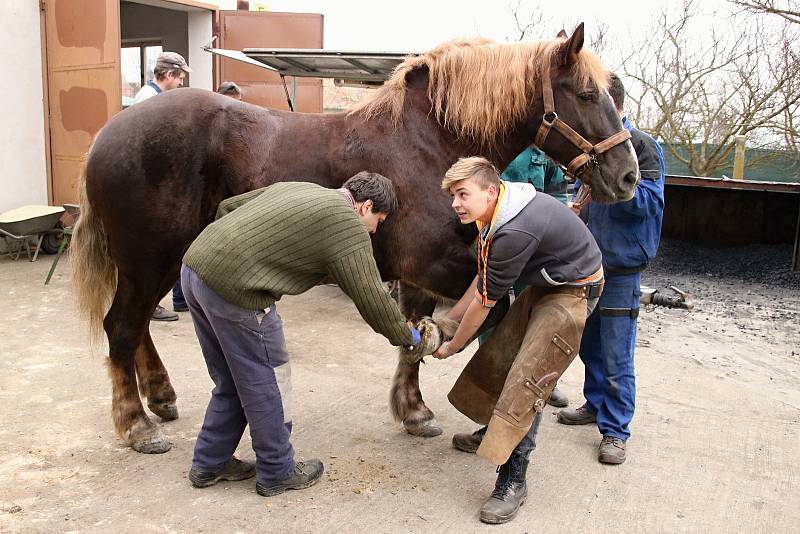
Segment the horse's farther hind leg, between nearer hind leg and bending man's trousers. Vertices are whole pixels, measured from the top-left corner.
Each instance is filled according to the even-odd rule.
[[[172,283],[162,283],[159,295],[163,295],[174,285],[175,273],[171,274],[172,276],[166,279],[171,280]],[[169,380],[167,369],[158,356],[156,346],[152,337],[150,337],[149,328],[145,328],[142,342],[136,349],[135,363],[136,376],[139,379],[139,392],[142,397],[147,399],[147,407],[164,421],[177,419],[177,395]]]

